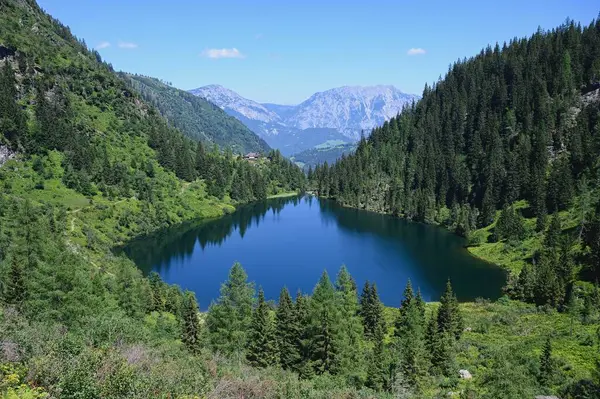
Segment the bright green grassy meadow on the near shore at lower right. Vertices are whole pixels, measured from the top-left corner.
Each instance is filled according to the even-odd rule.
[[[438,306],[427,304],[427,314]],[[542,310],[535,305],[502,298],[496,302],[461,303],[465,332],[457,350],[458,369],[467,369],[474,379],[486,372],[489,356],[494,352],[517,353],[538,359],[547,337],[552,340],[552,354],[560,369],[574,380],[591,378],[597,359],[594,345],[598,324],[582,324],[568,314]],[[397,308],[385,308],[393,334]]]

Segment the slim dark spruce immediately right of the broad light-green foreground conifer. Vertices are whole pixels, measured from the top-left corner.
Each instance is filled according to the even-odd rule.
[[[277,364],[277,341],[275,326],[265,302],[265,293],[258,290],[258,306],[252,313],[248,334],[246,359],[255,367],[268,367]]]

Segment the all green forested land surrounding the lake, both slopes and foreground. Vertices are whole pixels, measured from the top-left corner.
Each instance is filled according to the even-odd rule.
[[[185,138],[33,0],[0,1],[0,27],[0,397],[599,396],[600,290],[575,275],[598,270],[598,106],[580,91],[599,71],[597,21],[456,64],[310,173],[321,195],[464,234],[497,219],[501,242],[531,234],[526,200],[542,243],[518,300],[458,304],[449,282],[425,304],[408,284],[383,308],[342,268],[274,306],[236,264],[206,314],[111,249],[300,192],[304,175],[276,151],[249,162]]]

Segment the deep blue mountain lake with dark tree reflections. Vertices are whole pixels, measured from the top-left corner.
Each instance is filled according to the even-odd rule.
[[[359,292],[375,282],[381,300],[398,306],[408,279],[437,301],[448,278],[461,301],[496,299],[505,272],[471,256],[465,240],[442,228],[344,208],[316,197],[271,199],[222,218],[178,226],[129,243],[125,253],[144,273],[192,290],[205,310],[240,262],[267,299],[284,285],[312,292],[321,273],[342,264]]]

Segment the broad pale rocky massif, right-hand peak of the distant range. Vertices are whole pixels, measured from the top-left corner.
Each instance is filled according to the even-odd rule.
[[[358,140],[361,131],[368,135],[418,99],[394,86],[339,87],[313,94],[294,108],[285,123],[298,129],[332,128]]]

